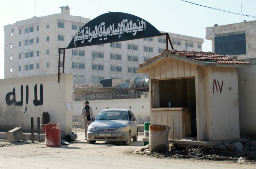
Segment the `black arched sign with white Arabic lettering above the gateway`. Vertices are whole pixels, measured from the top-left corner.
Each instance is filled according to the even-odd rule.
[[[86,23],[65,49],[165,35],[144,19],[128,13],[104,13]]]

